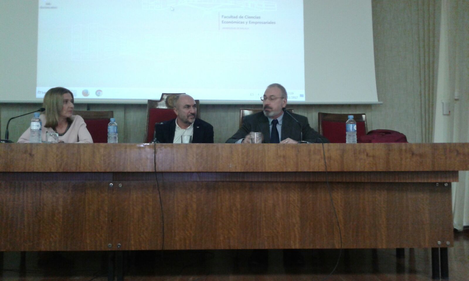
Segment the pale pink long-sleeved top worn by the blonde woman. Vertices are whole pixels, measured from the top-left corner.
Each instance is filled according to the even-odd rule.
[[[45,125],[45,115],[41,114],[39,116],[42,122],[42,132],[41,132],[41,140],[45,141],[45,133],[46,132],[53,132],[53,128],[46,128]],[[67,132],[65,132],[62,136],[59,136],[59,142],[63,141],[65,143],[93,143],[93,139],[91,138],[90,132],[86,128],[85,121],[80,115],[74,115],[71,118],[72,124],[68,128]],[[18,142],[29,142],[31,135],[31,128],[28,128],[26,132],[24,132]]]

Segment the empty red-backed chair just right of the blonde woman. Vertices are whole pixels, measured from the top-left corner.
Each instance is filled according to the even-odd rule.
[[[80,115],[86,123],[86,128],[91,134],[94,143],[107,143],[107,124],[113,118],[113,111],[74,111]]]

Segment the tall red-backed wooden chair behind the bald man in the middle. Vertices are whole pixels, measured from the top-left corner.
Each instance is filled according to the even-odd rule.
[[[145,136],[144,142],[149,143],[153,140],[153,134],[155,133],[155,124],[171,120],[176,118],[176,113],[174,113],[174,97],[176,95],[182,95],[184,93],[178,94],[161,94],[159,100],[148,100],[147,102],[147,118],[145,125]],[[196,100],[197,105],[197,118],[200,118],[200,106],[199,100]]]

